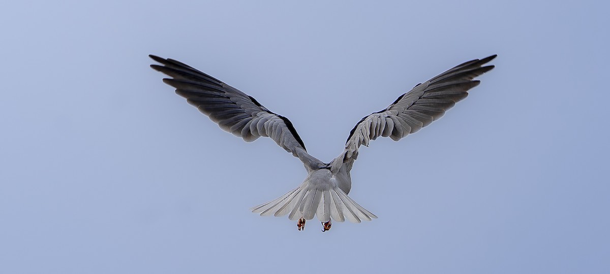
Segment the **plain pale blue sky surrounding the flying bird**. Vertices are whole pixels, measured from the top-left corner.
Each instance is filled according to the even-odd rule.
[[[332,2],[332,3],[329,3]],[[12,1],[0,10],[1,273],[610,273],[604,1]],[[496,68],[350,192],[321,233],[248,208],[300,184],[148,54],[289,118],[330,161],[351,128],[474,58]]]

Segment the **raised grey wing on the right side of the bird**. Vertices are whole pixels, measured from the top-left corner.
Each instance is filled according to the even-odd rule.
[[[368,142],[379,136],[398,141],[439,119],[456,102],[468,96],[468,90],[479,85],[479,81],[473,79],[493,69],[493,66],[483,65],[496,56],[455,66],[418,84],[386,109],[362,118],[351,130],[345,150],[332,161],[331,170],[336,172],[343,164],[350,170],[358,156],[358,148],[363,144],[368,146]]]

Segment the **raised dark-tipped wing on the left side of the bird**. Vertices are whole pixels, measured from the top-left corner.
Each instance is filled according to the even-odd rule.
[[[209,116],[223,130],[242,137],[246,142],[260,136],[270,137],[287,152],[300,158],[306,167],[313,169],[323,164],[307,153],[303,140],[289,119],[271,112],[242,91],[184,63],[154,55],[149,57],[163,65],[151,65],[151,68],[173,77],[163,79],[163,82],[176,88],[179,96],[185,97],[188,104]]]

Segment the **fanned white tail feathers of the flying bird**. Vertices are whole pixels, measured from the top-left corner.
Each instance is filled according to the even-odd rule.
[[[301,218],[311,220],[315,214],[320,222],[328,222],[331,217],[337,222],[348,219],[353,223],[377,218],[375,214],[354,202],[340,188],[328,185],[315,186],[307,181],[282,197],[254,206],[251,210],[253,213],[260,213],[260,216],[284,216],[290,213],[288,216],[290,220]]]

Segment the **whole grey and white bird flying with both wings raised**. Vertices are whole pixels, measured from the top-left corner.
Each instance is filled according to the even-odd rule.
[[[348,194],[351,190],[350,171],[359,148],[379,137],[398,141],[438,120],[456,102],[468,96],[468,90],[478,86],[475,77],[492,70],[486,65],[497,55],[470,60],[419,83],[401,94],[387,108],[371,113],[357,122],[350,131],[343,151],[329,163],[307,153],[305,144],[288,118],[264,107],[254,97],[215,79],[180,61],[149,55],[160,65],[152,69],[171,78],[163,82],[176,88],[176,94],[198,108],[220,128],[252,142],[269,137],[278,146],[299,158],[307,170],[307,177],[298,187],[279,198],[251,208],[260,216],[285,216],[297,221],[304,230],[307,220],[314,216],[321,222],[322,231],[331,229],[331,220],[353,223],[376,219]]]

